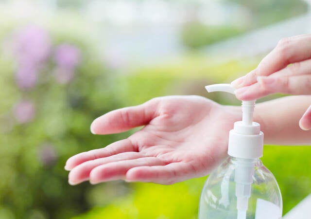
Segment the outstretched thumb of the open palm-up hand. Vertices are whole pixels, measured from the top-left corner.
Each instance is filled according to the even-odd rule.
[[[135,107],[126,107],[108,112],[91,124],[93,134],[111,134],[148,124],[155,118],[158,99],[152,99]]]

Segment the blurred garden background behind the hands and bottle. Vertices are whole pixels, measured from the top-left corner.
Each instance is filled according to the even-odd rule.
[[[303,0],[0,0],[0,219],[196,219],[207,179],[70,186],[66,160],[132,131],[94,118],[196,94],[256,68],[282,37],[311,32]],[[272,95],[260,101],[279,97]],[[265,146],[283,214],[311,193],[311,147]]]

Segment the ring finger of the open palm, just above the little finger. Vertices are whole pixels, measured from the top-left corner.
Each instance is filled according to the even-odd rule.
[[[126,172],[137,166],[166,165],[165,161],[156,157],[144,157],[135,160],[119,161],[103,164],[95,167],[90,172],[90,183],[102,183],[106,181],[125,179]]]

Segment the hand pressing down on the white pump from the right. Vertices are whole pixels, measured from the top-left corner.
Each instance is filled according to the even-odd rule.
[[[291,65],[290,65],[291,64]],[[252,72],[231,83],[240,100],[253,100],[271,93],[311,94],[311,35],[281,39]],[[311,129],[311,107],[299,121]]]

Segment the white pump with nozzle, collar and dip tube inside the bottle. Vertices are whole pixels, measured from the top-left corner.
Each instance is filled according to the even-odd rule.
[[[205,88],[208,92],[223,91],[234,94],[235,91],[230,84],[214,84]],[[248,199],[251,196],[254,163],[250,159],[257,159],[262,156],[263,133],[260,131],[260,125],[253,122],[255,101],[242,101],[242,121],[235,122],[234,128],[229,132],[228,155],[239,158],[234,177],[237,219],[246,219]]]

